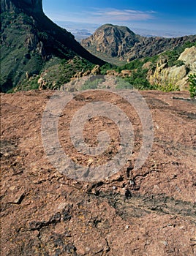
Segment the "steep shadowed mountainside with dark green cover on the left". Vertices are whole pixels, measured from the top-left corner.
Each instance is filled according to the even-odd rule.
[[[105,64],[45,16],[42,0],[1,0],[1,91],[74,56]]]

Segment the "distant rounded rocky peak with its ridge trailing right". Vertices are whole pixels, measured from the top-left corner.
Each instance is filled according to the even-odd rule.
[[[196,35],[179,38],[141,37],[124,26],[105,24],[90,37],[83,39],[81,45],[99,56],[118,57],[121,60],[154,56],[165,50],[171,50],[184,42],[195,42]]]

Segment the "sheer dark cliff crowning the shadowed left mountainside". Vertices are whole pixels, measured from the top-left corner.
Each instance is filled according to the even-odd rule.
[[[42,0],[1,0],[1,12],[16,10],[28,14],[43,12]]]

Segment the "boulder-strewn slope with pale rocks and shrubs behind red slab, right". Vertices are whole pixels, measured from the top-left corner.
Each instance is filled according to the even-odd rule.
[[[189,48],[186,46],[189,45]],[[105,68],[105,67],[103,67]],[[97,69],[97,72],[93,72]],[[107,67],[100,69],[97,66],[88,72],[78,72],[71,82],[63,85],[67,90],[80,91],[78,78],[85,79],[86,75],[99,75],[97,78],[116,78],[116,83],[110,88],[116,89],[157,89],[159,91],[189,90],[189,76],[196,73],[196,43],[189,43],[176,50],[168,50],[157,56],[136,59],[121,67]],[[100,74],[105,74],[101,76]],[[87,80],[88,78],[86,78]],[[76,81],[75,81],[76,80]],[[91,86],[95,86],[91,84]],[[107,88],[105,83],[99,84],[99,89]],[[88,88],[90,89],[90,88]]]

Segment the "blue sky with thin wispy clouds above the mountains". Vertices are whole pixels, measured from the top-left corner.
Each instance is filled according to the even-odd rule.
[[[46,15],[67,30],[94,31],[112,23],[140,34],[183,36],[196,34],[194,0],[43,0]],[[78,24],[78,25],[77,25]]]

